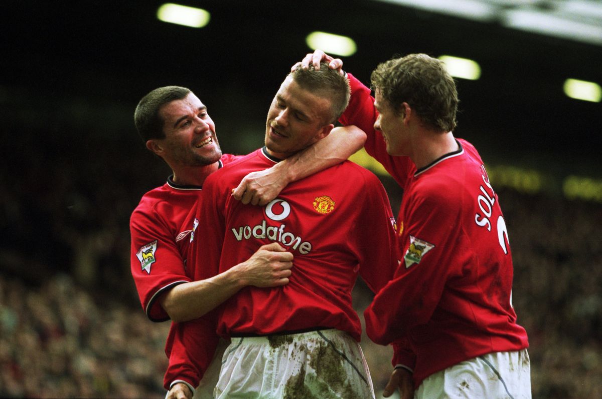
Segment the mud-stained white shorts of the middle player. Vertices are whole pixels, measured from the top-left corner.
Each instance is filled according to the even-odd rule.
[[[359,344],[335,329],[232,338],[216,399],[369,399],[374,389]]]

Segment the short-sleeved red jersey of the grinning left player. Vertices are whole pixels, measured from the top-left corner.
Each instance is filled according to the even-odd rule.
[[[241,156],[223,154],[220,166]],[[146,194],[132,212],[131,272],[140,296],[140,303],[152,321],[169,320],[156,301],[161,293],[175,285],[192,281],[186,259],[196,216],[199,186],[167,183]]]

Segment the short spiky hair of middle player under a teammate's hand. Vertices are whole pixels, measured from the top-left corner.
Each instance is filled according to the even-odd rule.
[[[331,115],[327,123],[335,123],[347,108],[351,93],[349,81],[336,70],[330,69],[326,62],[320,62],[319,70],[314,70],[313,65],[306,69],[299,66],[291,72],[291,76],[304,90],[330,99]]]

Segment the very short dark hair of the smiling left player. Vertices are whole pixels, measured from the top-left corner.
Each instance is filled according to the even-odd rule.
[[[163,139],[164,120],[159,111],[162,106],[175,100],[184,99],[191,93],[190,89],[179,86],[157,88],[142,97],[134,111],[134,124],[144,142],[150,139]]]

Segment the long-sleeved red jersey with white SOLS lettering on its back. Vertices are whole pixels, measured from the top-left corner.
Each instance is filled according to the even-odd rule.
[[[415,385],[436,371],[491,352],[529,346],[511,304],[512,256],[499,201],[476,149],[419,170],[386,153],[373,129],[370,90],[350,76],[352,102],[341,118],[368,134],[366,150],[403,187],[397,220],[399,269],[365,311],[368,337],[408,338]]]

